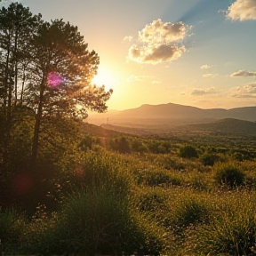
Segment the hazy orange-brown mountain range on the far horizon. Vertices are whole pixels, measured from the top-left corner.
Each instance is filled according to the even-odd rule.
[[[92,124],[200,124],[214,120],[235,118],[256,121],[256,107],[203,109],[179,104],[142,105],[139,108],[89,116]]]

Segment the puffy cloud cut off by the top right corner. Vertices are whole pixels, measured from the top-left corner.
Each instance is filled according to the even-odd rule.
[[[228,7],[226,13],[231,20],[256,20],[256,1],[236,0]]]

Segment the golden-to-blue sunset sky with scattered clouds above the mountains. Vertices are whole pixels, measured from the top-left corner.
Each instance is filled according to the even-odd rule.
[[[2,0],[0,4],[10,3]],[[19,0],[79,28],[108,109],[256,106],[256,0]]]

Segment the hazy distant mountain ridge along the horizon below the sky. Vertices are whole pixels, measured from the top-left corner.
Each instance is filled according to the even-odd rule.
[[[174,103],[160,105],[142,105],[139,108],[117,111],[112,115],[104,114],[109,117],[109,121],[121,119],[224,119],[235,118],[245,121],[256,121],[256,107],[244,108],[196,108]],[[93,116],[92,116],[93,117]]]

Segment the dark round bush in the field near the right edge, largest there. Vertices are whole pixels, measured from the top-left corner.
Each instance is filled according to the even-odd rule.
[[[243,185],[245,174],[237,165],[232,163],[217,164],[214,169],[214,178],[218,184],[231,188]]]

